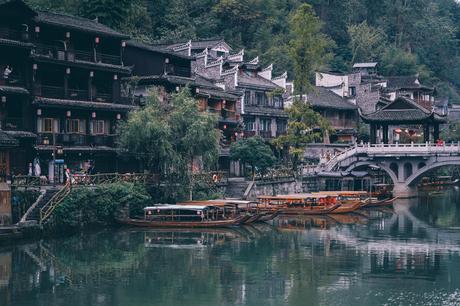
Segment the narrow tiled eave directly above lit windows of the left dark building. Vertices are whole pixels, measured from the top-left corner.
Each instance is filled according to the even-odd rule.
[[[115,104],[115,103],[103,103],[103,102],[92,102],[92,101],[76,101],[76,100],[62,100],[62,99],[51,99],[37,97],[33,104],[39,106],[54,106],[63,108],[79,108],[79,109],[93,109],[93,110],[107,110],[107,111],[129,111],[135,109],[133,105],[126,104]]]

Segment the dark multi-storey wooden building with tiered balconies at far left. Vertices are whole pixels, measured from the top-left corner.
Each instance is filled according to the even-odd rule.
[[[135,107],[120,95],[120,79],[131,73],[122,62],[128,37],[93,20],[36,12],[20,0],[2,4],[0,15],[6,54],[0,120],[29,152],[15,173],[27,174],[32,159],[50,180],[63,180],[64,165],[118,170],[116,125]],[[25,148],[27,142],[35,142],[35,150]]]

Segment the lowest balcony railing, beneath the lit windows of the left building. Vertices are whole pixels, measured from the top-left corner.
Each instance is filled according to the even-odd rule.
[[[56,133],[53,137],[52,133],[40,133],[38,135],[38,143],[40,145],[50,146],[107,146],[114,147],[115,135],[88,135],[88,134],[72,134],[72,133]],[[56,140],[56,143],[54,143]]]

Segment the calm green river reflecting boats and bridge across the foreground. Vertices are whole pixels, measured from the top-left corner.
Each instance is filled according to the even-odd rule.
[[[459,305],[460,191],[394,208],[0,247],[0,305]]]

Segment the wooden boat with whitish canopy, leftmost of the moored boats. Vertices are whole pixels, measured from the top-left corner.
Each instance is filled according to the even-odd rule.
[[[226,217],[224,210],[211,205],[156,205],[144,208],[144,219],[120,222],[141,227],[226,227],[243,224],[251,215]]]

